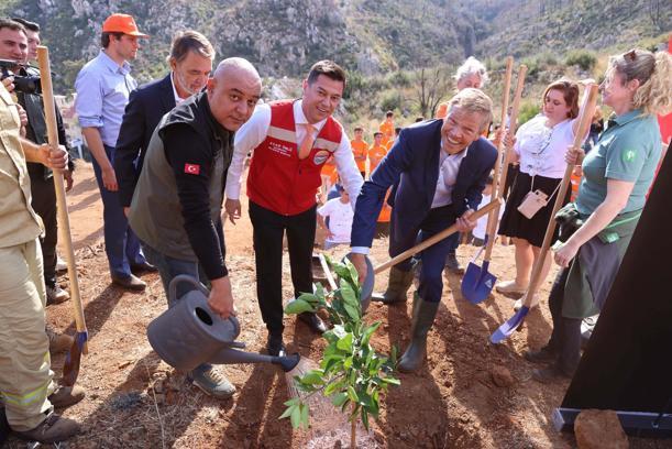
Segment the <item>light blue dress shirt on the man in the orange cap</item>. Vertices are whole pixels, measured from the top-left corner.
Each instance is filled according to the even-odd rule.
[[[75,81],[75,110],[79,125],[98,128],[107,146],[117,145],[129,95],[137,87],[130,73],[128,62],[120,66],[101,50],[79,70]]]

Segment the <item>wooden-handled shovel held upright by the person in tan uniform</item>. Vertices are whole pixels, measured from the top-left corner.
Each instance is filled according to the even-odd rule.
[[[44,101],[44,118],[46,121],[47,141],[52,146],[58,146],[58,133],[56,130],[56,109],[54,106],[54,90],[52,87],[52,69],[49,66],[49,52],[45,46],[37,47],[37,62],[40,63],[40,77],[42,78],[42,96]],[[77,333],[75,342],[65,358],[63,365],[63,383],[75,385],[79,375],[79,362],[81,353],[88,353],[87,340],[88,331],[84,319],[84,308],[81,307],[81,295],[79,293],[79,281],[77,278],[77,267],[75,265],[75,251],[73,250],[73,237],[70,236],[70,219],[65,201],[65,187],[63,184],[63,173],[54,171],[54,187],[56,188],[56,204],[58,206],[58,229],[60,239],[65,244],[65,260],[68,265],[68,277],[70,280],[70,295],[73,307],[75,308],[75,322]]]

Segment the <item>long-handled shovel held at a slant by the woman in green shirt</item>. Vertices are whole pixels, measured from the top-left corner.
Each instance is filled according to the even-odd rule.
[[[597,86],[590,85],[586,87],[586,90],[584,92],[583,103],[581,107],[581,112],[579,114],[579,130],[576,132],[576,135],[574,136],[574,146],[576,147],[581,146],[581,142],[587,133],[588,127],[591,125],[591,121],[593,120],[593,113],[595,112],[596,103]],[[522,307],[520,307],[520,310],[516,313],[516,315],[509,318],[508,321],[506,321],[504,325],[499,326],[499,328],[491,336],[491,342],[493,343],[500,343],[504,339],[509,337],[518,327],[520,327],[520,325],[522,325],[525,317],[530,311],[535,294],[539,289],[539,284],[541,283],[541,269],[549,252],[551,239],[553,238],[553,233],[555,232],[555,220],[553,217],[555,217],[555,213],[562,207],[562,201],[564,200],[564,196],[568,191],[573,169],[574,165],[568,164],[564,171],[564,176],[562,177],[560,189],[558,191],[558,196],[555,197],[555,204],[553,205],[551,220],[549,221],[549,226],[546,228],[543,243],[541,244],[541,250],[539,251],[539,255],[537,256],[537,261],[535,262],[535,266],[532,267],[530,285],[528,287],[527,293],[525,294],[525,303],[522,304]]]

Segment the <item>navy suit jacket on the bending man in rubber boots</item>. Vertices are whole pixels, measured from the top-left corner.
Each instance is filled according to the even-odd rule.
[[[393,206],[395,234],[404,236],[420,226],[431,209],[439,179],[442,125],[443,120],[430,120],[401,130],[357,197],[352,247],[371,247],[376,219],[390,186],[388,202]],[[487,139],[480,138],[469,146],[451,194],[455,217],[467,208],[478,208],[483,188],[496,160],[497,150]]]

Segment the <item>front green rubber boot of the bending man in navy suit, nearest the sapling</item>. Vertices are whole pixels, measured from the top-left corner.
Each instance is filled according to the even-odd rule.
[[[427,354],[427,333],[434,324],[438,309],[439,303],[423,300],[416,292],[414,295],[410,344],[399,360],[397,368],[400,372],[411,373],[422,366],[422,361]]]

